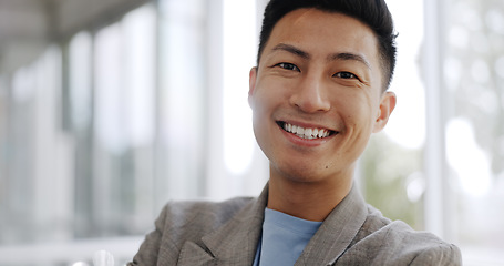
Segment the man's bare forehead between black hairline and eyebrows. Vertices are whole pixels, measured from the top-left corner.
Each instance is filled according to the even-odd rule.
[[[318,9],[298,9],[275,25],[265,53],[280,43],[296,45],[313,55],[350,52],[360,54],[378,66],[378,41],[374,32],[349,16]],[[265,54],[264,54],[265,55]]]

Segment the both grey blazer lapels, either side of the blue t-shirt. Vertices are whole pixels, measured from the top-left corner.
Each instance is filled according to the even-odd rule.
[[[187,243],[178,265],[253,265],[263,232],[268,185],[258,198],[248,203],[217,231],[205,235],[204,246]],[[353,184],[350,193],[332,209],[306,246],[295,266],[333,265],[344,253],[366,222],[367,204]]]

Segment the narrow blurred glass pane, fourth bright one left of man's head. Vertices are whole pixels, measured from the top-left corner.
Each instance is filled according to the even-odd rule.
[[[94,143],[92,213],[88,236],[120,234],[121,192],[131,187],[131,165],[124,113],[127,92],[124,78],[122,28],[115,23],[102,29],[95,38],[94,53]],[[124,172],[123,172],[124,171]]]

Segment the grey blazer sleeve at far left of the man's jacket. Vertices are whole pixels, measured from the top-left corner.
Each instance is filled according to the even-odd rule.
[[[155,229],[145,236],[144,242],[140,246],[138,253],[133,257],[133,262],[128,266],[135,265],[157,265],[161,242],[163,238],[163,229],[166,223],[166,211],[164,207],[155,222]]]

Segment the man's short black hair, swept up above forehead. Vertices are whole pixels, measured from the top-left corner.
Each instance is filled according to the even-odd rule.
[[[259,37],[257,65],[272,29],[287,13],[302,8],[315,8],[327,12],[338,12],[352,17],[367,24],[376,34],[378,51],[384,75],[383,90],[392,81],[395,68],[395,38],[392,14],[384,0],[271,0],[265,9]]]

